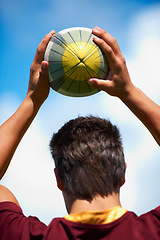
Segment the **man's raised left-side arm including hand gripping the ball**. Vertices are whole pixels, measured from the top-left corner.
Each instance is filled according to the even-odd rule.
[[[18,110],[0,126],[0,179],[6,172],[23,135],[49,94],[48,62],[44,60],[47,44],[55,32],[39,44],[31,69],[27,95]]]

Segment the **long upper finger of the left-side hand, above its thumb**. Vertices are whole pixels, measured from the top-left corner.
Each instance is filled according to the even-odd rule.
[[[44,60],[44,54],[45,54],[46,47],[54,34],[55,34],[55,31],[52,30],[50,33],[46,34],[45,37],[40,42],[39,46],[37,47],[37,51],[36,51],[36,54],[34,57],[35,63],[41,64],[41,62]]]

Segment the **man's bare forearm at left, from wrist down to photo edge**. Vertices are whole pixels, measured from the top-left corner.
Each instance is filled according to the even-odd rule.
[[[0,126],[0,179],[5,174],[19,142],[39,107],[27,96],[17,111]]]

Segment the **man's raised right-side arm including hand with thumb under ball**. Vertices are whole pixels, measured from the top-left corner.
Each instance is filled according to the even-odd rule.
[[[107,79],[89,79],[88,83],[112,96],[119,97],[148,128],[160,145],[160,107],[132,84],[117,41],[98,27],[92,31],[97,36],[94,38],[95,43],[106,55],[110,72]]]

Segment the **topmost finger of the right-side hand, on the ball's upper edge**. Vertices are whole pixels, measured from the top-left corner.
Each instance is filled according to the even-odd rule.
[[[113,36],[111,36],[108,32],[106,32],[103,29],[100,29],[99,27],[93,28],[92,32],[99,38],[103,39],[113,49],[115,55],[117,56],[122,55],[117,40]]]

